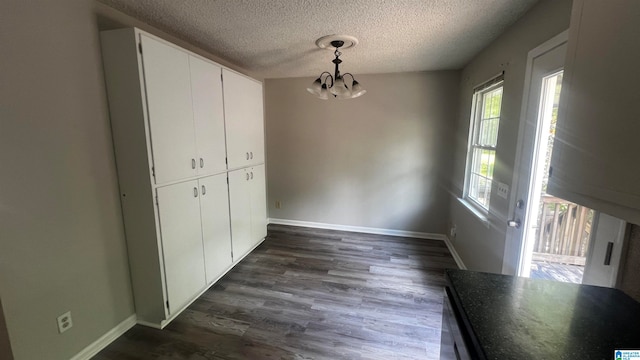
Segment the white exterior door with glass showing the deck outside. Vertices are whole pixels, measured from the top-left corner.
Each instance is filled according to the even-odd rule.
[[[509,221],[503,272],[611,287],[626,223],[546,193],[554,143],[549,134],[553,134],[552,118],[559,107],[565,53],[563,33],[529,54],[518,180],[512,197],[514,217]],[[545,239],[545,232],[551,232],[552,238]],[[535,273],[532,260],[536,260]]]

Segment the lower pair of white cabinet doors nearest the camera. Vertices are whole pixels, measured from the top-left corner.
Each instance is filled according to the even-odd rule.
[[[169,315],[232,264],[227,176],[157,189]]]

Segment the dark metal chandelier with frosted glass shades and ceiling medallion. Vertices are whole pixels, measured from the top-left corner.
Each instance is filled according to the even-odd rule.
[[[342,63],[342,60],[340,60],[340,55],[342,55],[340,48],[350,48],[357,43],[358,40],[356,38],[347,35],[329,35],[318,39],[316,45],[319,48],[335,49],[333,52],[335,59],[331,61],[335,64],[335,71],[333,75],[328,71],[321,73],[307,88],[307,91],[322,100],[327,100],[330,94],[337,99],[354,99],[364,95],[367,91],[362,88],[351,73],[340,73],[340,64]],[[346,82],[345,77],[347,78]]]

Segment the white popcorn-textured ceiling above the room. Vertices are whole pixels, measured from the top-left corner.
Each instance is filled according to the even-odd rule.
[[[459,69],[537,0],[100,0],[264,78]]]

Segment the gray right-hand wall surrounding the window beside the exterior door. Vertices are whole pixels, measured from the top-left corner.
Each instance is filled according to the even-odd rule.
[[[453,243],[470,269],[502,271],[509,208],[507,200],[492,197],[487,226],[458,201],[463,192],[473,88],[505,71],[494,178],[512,186],[527,55],[536,46],[568,29],[570,15],[570,0],[540,1],[462,71],[450,223],[457,225]]]

